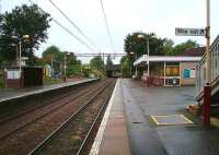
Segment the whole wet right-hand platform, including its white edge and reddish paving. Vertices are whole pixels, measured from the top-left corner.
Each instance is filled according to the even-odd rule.
[[[217,155],[219,129],[186,110],[194,87],[119,79],[90,155]]]

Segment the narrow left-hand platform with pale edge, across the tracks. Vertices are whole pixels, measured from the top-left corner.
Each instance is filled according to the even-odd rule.
[[[78,85],[82,83],[88,83],[95,81],[95,79],[84,79],[84,80],[76,80],[71,82],[66,82],[66,83],[59,83],[59,84],[53,84],[53,85],[44,85],[44,86],[37,86],[37,87],[30,87],[30,88],[19,88],[15,91],[1,91],[0,90],[0,103],[9,99],[14,99],[14,98],[21,98],[24,96],[30,96],[33,94],[41,94],[43,92],[49,92],[53,90],[66,87],[66,86],[71,86],[71,85]]]

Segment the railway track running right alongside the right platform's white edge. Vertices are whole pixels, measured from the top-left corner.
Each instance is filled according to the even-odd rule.
[[[115,81],[110,82],[28,155],[84,154],[111,97]]]

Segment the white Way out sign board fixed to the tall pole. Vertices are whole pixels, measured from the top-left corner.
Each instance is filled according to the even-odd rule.
[[[176,36],[205,36],[204,28],[175,28]]]

